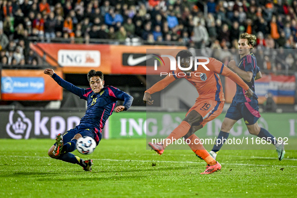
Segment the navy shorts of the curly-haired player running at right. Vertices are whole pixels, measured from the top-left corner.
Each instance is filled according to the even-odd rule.
[[[233,100],[225,116],[225,118],[232,120],[243,118],[246,125],[255,124],[260,117],[258,100],[246,103],[238,103]]]

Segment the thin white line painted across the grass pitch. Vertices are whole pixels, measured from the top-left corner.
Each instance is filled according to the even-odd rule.
[[[0,156],[0,157],[24,157],[24,158],[48,158],[44,156]],[[275,159],[275,158],[272,158]],[[130,160],[130,159],[93,159],[93,160],[101,160],[101,161],[118,161],[118,162],[158,162],[158,163],[188,163],[188,164],[205,164],[205,162],[192,162],[192,161],[155,161],[155,160]],[[297,166],[290,166],[290,165],[268,165],[268,164],[242,164],[242,163],[221,163],[223,165],[236,165],[236,166],[275,166],[275,167],[291,167],[296,168]]]

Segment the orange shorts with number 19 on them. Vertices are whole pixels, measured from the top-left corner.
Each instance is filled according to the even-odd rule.
[[[195,104],[189,109],[185,116],[187,116],[190,111],[195,110],[203,118],[200,125],[205,126],[206,123],[214,120],[222,113],[224,104],[225,101],[213,101],[206,99],[196,100]]]

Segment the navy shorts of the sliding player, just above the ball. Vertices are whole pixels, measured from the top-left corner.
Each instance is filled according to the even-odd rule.
[[[93,127],[88,128],[86,126],[78,125],[75,128],[70,129],[69,131],[67,131],[66,133],[63,134],[63,143],[65,144],[67,142],[70,142],[73,139],[73,137],[78,133],[82,137],[88,136],[88,137],[93,138],[96,142],[96,145],[98,145],[102,139],[102,134],[100,132],[98,132],[98,130],[96,130],[95,128],[93,128]],[[56,145],[56,143],[54,145]]]

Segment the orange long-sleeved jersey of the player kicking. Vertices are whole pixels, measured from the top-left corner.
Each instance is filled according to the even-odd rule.
[[[175,71],[170,72],[164,79],[160,80],[151,88],[146,90],[146,92],[152,94],[162,90],[175,79],[185,78],[196,87],[196,90],[199,93],[199,99],[225,101],[222,82],[219,74],[229,77],[245,90],[249,89],[249,86],[236,73],[231,71],[228,67],[225,67],[221,61],[218,61],[215,58],[209,59],[210,62],[206,64],[206,66],[210,69],[209,71],[206,70],[202,65],[199,65],[196,71],[193,71],[194,69],[192,69],[191,73],[186,75],[183,71],[177,68]]]

